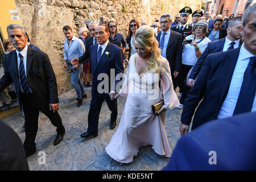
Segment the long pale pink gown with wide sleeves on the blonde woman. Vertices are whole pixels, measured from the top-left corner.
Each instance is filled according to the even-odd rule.
[[[172,109],[179,106],[168,61],[162,59],[166,71],[148,71],[140,77],[135,67],[135,56],[138,56],[137,53],[130,57],[129,67],[119,92],[122,97],[127,97],[122,118],[117,131],[106,146],[108,155],[121,163],[132,162],[139,148],[148,145],[152,145],[157,154],[170,158],[172,152],[164,130],[166,112],[156,116],[152,113],[151,105],[163,100],[164,97],[164,108]],[[159,80],[163,87],[163,97],[159,89]]]

